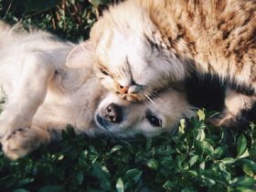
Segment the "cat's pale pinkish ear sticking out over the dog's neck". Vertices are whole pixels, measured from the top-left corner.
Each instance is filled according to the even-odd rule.
[[[85,68],[92,63],[92,53],[91,41],[87,40],[71,50],[66,60],[66,66],[69,68]]]

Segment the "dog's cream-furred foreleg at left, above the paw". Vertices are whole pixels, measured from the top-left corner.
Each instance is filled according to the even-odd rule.
[[[30,127],[38,106],[45,100],[54,68],[37,54],[30,54],[16,66],[20,77],[13,78],[13,91],[7,93],[4,111],[0,115],[0,138],[19,128]]]

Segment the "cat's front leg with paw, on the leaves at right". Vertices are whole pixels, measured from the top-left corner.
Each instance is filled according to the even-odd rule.
[[[209,118],[208,123],[216,127],[239,128],[240,112],[250,110],[255,101],[256,97],[254,95],[245,95],[238,91],[227,89],[223,112]]]

